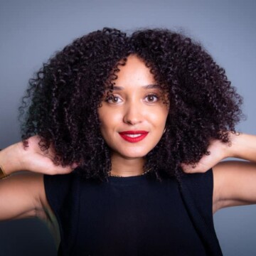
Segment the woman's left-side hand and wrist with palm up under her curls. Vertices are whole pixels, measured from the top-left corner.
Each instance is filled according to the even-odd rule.
[[[53,159],[55,151],[53,146],[46,151],[41,151],[38,142],[40,138],[33,136],[28,139],[28,145],[18,142],[0,151],[0,165],[6,174],[16,171],[33,171],[41,174],[68,174],[78,164],[72,166],[55,165]]]

